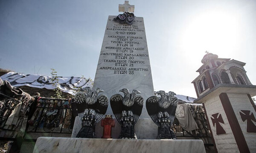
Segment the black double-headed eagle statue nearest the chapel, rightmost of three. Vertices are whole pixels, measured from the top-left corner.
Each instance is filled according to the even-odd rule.
[[[171,125],[175,119],[175,111],[178,99],[174,92],[157,91],[160,98],[151,96],[146,101],[148,115],[158,126],[157,139],[176,139],[175,133],[171,129]]]

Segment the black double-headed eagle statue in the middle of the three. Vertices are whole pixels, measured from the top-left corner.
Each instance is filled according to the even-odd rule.
[[[137,95],[140,94],[138,90],[133,90],[130,94],[129,90],[124,88],[120,92],[124,93],[124,96],[115,94],[110,98],[113,114],[121,125],[119,139],[137,139],[134,125],[142,112],[143,97]]]

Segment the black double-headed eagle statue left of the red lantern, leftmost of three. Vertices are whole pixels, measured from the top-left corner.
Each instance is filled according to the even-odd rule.
[[[85,88],[85,92],[79,92],[75,95],[75,102],[79,121],[82,125],[77,133],[77,138],[96,138],[95,125],[99,122],[108,108],[108,97],[99,95],[104,92],[100,88],[95,91],[90,87]]]

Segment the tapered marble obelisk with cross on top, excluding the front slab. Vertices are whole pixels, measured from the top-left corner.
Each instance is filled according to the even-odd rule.
[[[134,6],[125,1],[125,4],[119,5],[119,11],[134,12]],[[144,98],[140,118],[149,119],[145,100],[154,95],[154,88],[143,17],[135,17],[131,25],[116,22],[113,20],[115,17],[108,17],[93,88],[103,89],[109,98],[121,94],[119,90],[122,88],[129,91],[137,89]],[[113,115],[110,105],[106,114]]]

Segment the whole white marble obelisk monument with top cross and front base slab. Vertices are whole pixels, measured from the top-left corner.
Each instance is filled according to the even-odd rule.
[[[119,11],[134,11],[134,6],[119,5]],[[122,94],[120,89],[137,89],[144,98],[142,114],[134,126],[138,139],[81,139],[81,138],[38,138],[33,153],[83,153],[86,152],[145,152],[145,153],[205,153],[202,140],[148,140],[156,139],[157,125],[152,122],[145,108],[145,100],[154,95],[148,47],[143,17],[136,17],[132,24],[120,24],[109,16],[105,30],[99,63],[93,88],[101,88],[109,98]],[[112,114],[108,105],[107,114]],[[117,125],[117,124],[116,124]],[[80,127],[79,127],[80,126]],[[112,138],[117,138],[120,126],[112,129]],[[72,137],[81,129],[76,117]],[[103,128],[96,125],[96,137],[101,138]],[[189,147],[188,147],[189,146]]]

